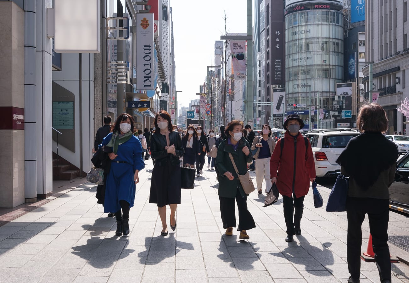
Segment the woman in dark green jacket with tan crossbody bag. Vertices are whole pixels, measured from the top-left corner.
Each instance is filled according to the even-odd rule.
[[[226,128],[225,139],[220,142],[216,166],[219,171],[219,190],[220,213],[223,221],[223,228],[226,229],[226,236],[233,235],[233,227],[236,227],[235,204],[236,199],[238,208],[238,227],[240,231],[240,240],[247,240],[250,237],[246,230],[256,227],[253,216],[247,209],[247,195],[244,192],[229,153],[233,156],[234,163],[240,175],[247,172],[247,162],[253,160],[249,143],[243,137],[243,125],[239,121],[231,121]]]

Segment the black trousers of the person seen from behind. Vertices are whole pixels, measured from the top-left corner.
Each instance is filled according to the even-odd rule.
[[[391,280],[391,259],[388,247],[389,200],[376,198],[352,198],[346,200],[348,216],[348,236],[346,240],[346,258],[348,272],[354,279],[361,274],[362,222],[368,214],[369,231],[372,235],[372,248],[375,253],[381,282]]]

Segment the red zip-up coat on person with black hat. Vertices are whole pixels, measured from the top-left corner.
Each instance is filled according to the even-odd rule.
[[[281,154],[283,139],[284,147]],[[294,138],[287,131],[284,138],[278,140],[270,159],[270,177],[277,178],[277,189],[282,195],[291,197],[292,193],[295,193],[295,196],[299,198],[308,193],[310,178],[315,178],[315,163],[311,144],[308,141],[306,149],[301,133]]]

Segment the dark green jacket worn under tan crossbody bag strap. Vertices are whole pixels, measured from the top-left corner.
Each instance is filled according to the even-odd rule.
[[[244,137],[242,137],[238,141],[238,147],[235,151],[234,147],[227,142],[229,138],[230,137],[223,139],[217,149],[216,166],[220,172],[218,195],[224,198],[236,198],[236,192],[238,188],[241,196],[244,198],[246,194],[244,193],[240,181],[238,180],[236,171],[234,170],[233,164],[231,163],[229,153],[233,155],[238,173],[240,175],[244,175],[247,172],[247,162],[252,162],[253,160],[252,150],[249,143],[244,139]],[[243,153],[244,146],[247,146],[250,152],[247,156]],[[234,176],[233,180],[230,181],[229,178],[224,175],[227,171]]]

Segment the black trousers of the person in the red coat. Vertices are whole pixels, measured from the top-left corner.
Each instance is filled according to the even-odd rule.
[[[287,235],[295,235],[295,230],[301,229],[301,218],[303,217],[305,196],[296,198],[283,195],[284,219],[287,226]],[[295,213],[294,213],[295,209]],[[294,220],[293,220],[294,217]]]

